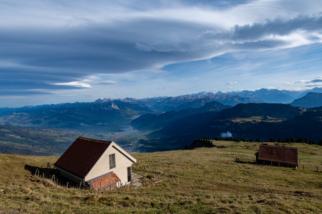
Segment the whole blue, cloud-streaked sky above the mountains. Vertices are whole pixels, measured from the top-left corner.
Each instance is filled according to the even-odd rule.
[[[0,107],[322,87],[320,0],[0,0]]]

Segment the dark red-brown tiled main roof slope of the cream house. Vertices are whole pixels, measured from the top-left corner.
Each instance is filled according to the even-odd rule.
[[[78,137],[54,165],[78,177],[85,178],[111,143],[111,141]]]

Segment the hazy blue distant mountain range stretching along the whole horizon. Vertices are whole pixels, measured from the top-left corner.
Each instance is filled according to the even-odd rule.
[[[221,111],[241,103],[290,103],[298,107],[317,107],[322,105],[321,94],[318,92],[322,92],[322,88],[316,87],[307,91],[262,88],[256,91],[200,92],[176,97],[143,99],[104,98],[94,102],[0,108],[0,124],[105,133],[120,132],[122,126],[129,125],[133,121],[131,125],[139,130],[153,130],[165,127],[176,118]],[[162,114],[165,112],[166,114]],[[145,124],[138,123],[143,118],[149,118],[147,121],[150,122],[144,120]]]

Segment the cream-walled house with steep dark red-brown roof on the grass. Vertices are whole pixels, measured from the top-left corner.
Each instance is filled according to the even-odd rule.
[[[54,165],[62,176],[100,190],[130,183],[136,162],[113,141],[78,137]]]

